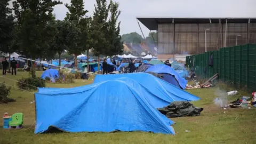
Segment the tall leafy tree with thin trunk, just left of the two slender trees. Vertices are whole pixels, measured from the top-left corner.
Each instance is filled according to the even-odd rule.
[[[76,27],[74,30],[77,34],[76,39],[72,46],[68,46],[67,50],[75,55],[75,68],[77,69],[77,56],[87,49],[90,45],[87,43],[89,40],[89,22],[90,18],[86,16],[87,10],[84,10],[83,0],[71,0],[71,5],[65,4],[69,12],[67,12],[65,20],[69,21],[71,25]],[[73,33],[75,34],[75,33]],[[69,37],[70,39],[71,37]],[[76,47],[73,47],[76,45]]]

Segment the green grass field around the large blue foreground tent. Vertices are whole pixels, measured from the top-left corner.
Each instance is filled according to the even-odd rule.
[[[37,72],[41,75],[42,72]],[[17,76],[7,75],[12,79],[27,77],[28,73],[18,72]],[[0,82],[15,86],[16,82],[0,77]],[[93,82],[76,79],[74,84],[47,84],[49,87],[75,87]],[[116,133],[46,133],[34,134],[35,103],[33,93],[12,89],[11,97],[17,100],[7,104],[0,104],[0,114],[21,112],[25,115],[23,129],[3,129],[3,119],[0,119],[0,143],[255,143],[256,109],[220,109],[213,104],[217,87],[207,89],[193,89],[188,92],[201,97],[193,102],[195,106],[203,107],[204,111],[198,117],[172,118],[177,122],[173,125],[176,135],[154,134],[146,132],[116,132]],[[238,93],[229,97],[235,100]],[[186,130],[190,132],[185,132]],[[254,142],[253,142],[254,141]]]

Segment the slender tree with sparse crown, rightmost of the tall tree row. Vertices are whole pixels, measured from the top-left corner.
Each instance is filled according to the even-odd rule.
[[[116,55],[123,52],[123,42],[121,42],[120,36],[120,24],[121,22],[117,23],[118,17],[121,14],[121,11],[118,10],[119,3],[110,1],[110,18],[108,21],[108,49],[105,53],[106,55]]]

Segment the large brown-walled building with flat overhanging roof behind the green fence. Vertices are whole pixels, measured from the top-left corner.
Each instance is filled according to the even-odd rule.
[[[137,18],[157,30],[157,58],[256,43],[256,18]]]

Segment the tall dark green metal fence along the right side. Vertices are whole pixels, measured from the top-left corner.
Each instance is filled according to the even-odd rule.
[[[211,53],[212,67],[209,66]],[[190,55],[186,57],[186,63],[189,68],[194,67],[196,75],[201,78],[218,73],[223,82],[256,89],[256,44],[223,47],[218,51]]]

